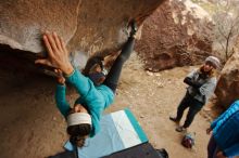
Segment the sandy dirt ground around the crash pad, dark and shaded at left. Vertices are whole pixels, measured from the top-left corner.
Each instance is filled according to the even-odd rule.
[[[192,68],[147,73],[134,53],[124,67],[115,103],[105,113],[129,107],[155,148],[166,148],[171,158],[205,158],[210,107],[196,117],[189,129],[196,132],[193,149],[180,145],[183,133],[176,132],[176,124],[168,120],[186,92],[183,79]],[[1,70],[1,158],[43,158],[63,150],[67,135],[65,121],[55,108],[54,88],[55,82],[49,77]],[[76,97],[70,89],[68,101]]]

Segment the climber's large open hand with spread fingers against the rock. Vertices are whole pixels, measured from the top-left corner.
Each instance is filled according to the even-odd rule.
[[[36,60],[35,63],[60,68],[65,75],[72,74],[74,68],[68,61],[68,51],[56,32],[46,32],[43,42],[48,51],[48,58]]]

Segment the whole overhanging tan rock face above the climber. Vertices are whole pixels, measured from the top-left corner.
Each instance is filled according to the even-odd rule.
[[[88,56],[115,50],[127,39],[127,25],[141,24],[163,0],[1,0],[0,51],[43,53],[41,37],[56,31],[71,52]],[[2,53],[2,51],[0,52]],[[8,53],[8,51],[4,53]]]

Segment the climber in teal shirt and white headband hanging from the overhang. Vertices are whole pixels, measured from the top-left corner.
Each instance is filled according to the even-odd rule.
[[[63,40],[55,32],[46,32],[43,35],[43,42],[49,56],[48,58],[37,60],[35,63],[54,67],[59,76],[59,84],[55,92],[56,106],[66,119],[66,131],[73,145],[84,146],[85,140],[88,136],[95,136],[100,130],[101,114],[113,103],[122,66],[134,50],[136,23],[130,23],[130,36],[101,85],[95,85],[88,77],[85,77],[71,65],[68,51]],[[73,107],[70,106],[65,97],[65,80],[79,94]]]

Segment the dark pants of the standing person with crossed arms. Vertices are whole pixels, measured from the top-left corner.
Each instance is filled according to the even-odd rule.
[[[184,128],[188,128],[191,124],[191,122],[193,121],[194,116],[201,110],[202,106],[203,106],[203,103],[193,98],[187,92],[185,97],[181,100],[180,104],[178,105],[176,120],[180,121],[185,109],[189,107],[187,118],[186,118],[185,123],[183,126]]]

